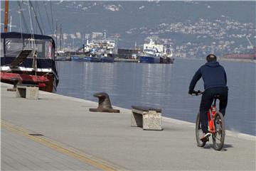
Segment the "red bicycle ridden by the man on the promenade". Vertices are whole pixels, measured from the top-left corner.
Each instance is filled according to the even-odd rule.
[[[196,96],[203,94],[200,90],[193,92]],[[208,131],[211,133],[213,138],[213,148],[215,150],[221,150],[224,145],[225,140],[225,122],[223,114],[218,111],[216,108],[216,101],[219,95],[214,96],[213,104],[210,106],[210,109],[207,113],[208,115]],[[203,131],[201,129],[200,113],[196,116],[196,143],[198,147],[203,147],[206,145],[206,142],[209,141],[207,138],[206,141],[201,141],[201,136],[203,136]]]

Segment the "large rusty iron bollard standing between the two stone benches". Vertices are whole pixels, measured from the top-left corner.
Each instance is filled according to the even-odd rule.
[[[120,113],[119,110],[112,108],[110,97],[107,93],[105,92],[95,93],[93,94],[93,96],[99,98],[99,105],[96,109],[90,108],[89,111]]]

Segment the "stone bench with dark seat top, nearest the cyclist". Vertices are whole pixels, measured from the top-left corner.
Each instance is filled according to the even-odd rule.
[[[131,126],[139,126],[143,130],[162,130],[161,109],[132,106]]]

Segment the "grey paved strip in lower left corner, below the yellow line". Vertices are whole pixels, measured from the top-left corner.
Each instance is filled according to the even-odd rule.
[[[99,168],[2,128],[1,170],[99,170]]]

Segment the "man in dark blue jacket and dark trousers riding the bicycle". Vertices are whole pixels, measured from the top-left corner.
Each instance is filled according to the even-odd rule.
[[[206,64],[202,65],[193,76],[189,85],[188,94],[193,94],[194,88],[198,80],[203,77],[203,85],[205,91],[200,104],[200,120],[203,131],[201,140],[206,140],[210,133],[208,132],[208,116],[207,112],[210,109],[215,95],[219,95],[220,99],[220,113],[225,116],[225,109],[228,104],[228,87],[227,87],[227,75],[224,67],[217,62],[217,57],[210,54],[206,57]]]

